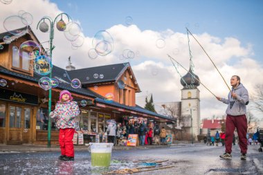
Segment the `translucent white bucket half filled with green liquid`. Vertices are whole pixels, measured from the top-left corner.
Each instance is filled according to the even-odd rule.
[[[113,143],[90,142],[91,166],[109,167],[111,165],[111,150]]]

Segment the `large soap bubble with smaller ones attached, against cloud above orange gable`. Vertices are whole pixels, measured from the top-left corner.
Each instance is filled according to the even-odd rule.
[[[98,55],[106,56],[114,50],[114,39],[106,30],[100,30],[94,35],[92,46],[88,52],[91,59],[96,59]]]

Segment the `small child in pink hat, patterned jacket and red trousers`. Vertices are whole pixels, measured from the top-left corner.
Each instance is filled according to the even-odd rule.
[[[60,160],[74,160],[73,136],[75,133],[75,117],[80,114],[78,103],[72,101],[71,93],[67,90],[60,92],[60,101],[55,110],[50,113],[55,118],[56,127],[60,129]]]

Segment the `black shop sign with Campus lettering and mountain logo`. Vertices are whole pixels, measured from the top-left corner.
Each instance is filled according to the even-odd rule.
[[[10,102],[19,102],[24,104],[38,104],[37,95],[30,95],[28,93],[20,93],[17,91],[10,91],[7,89],[0,89],[0,99]]]

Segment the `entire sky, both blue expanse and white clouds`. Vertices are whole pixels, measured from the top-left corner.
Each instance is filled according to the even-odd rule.
[[[1,0],[4,1],[4,0]],[[6,0],[8,1],[8,0]],[[10,1],[10,0],[9,0]],[[263,1],[44,1],[24,0],[0,2],[0,32],[5,32],[6,18],[29,12],[33,16],[33,32],[40,42],[49,39],[48,33],[37,30],[44,16],[55,19],[61,12],[68,14],[81,28],[84,44],[72,46],[64,33],[55,28],[53,64],[65,68],[67,59],[78,68],[129,62],[140,86],[136,103],[145,105],[145,97],[153,95],[154,104],[181,101],[180,76],[186,74],[180,66],[179,73],[167,54],[189,68],[190,55],[194,73],[212,93],[227,97],[228,87],[201,47],[185,28],[198,39],[230,86],[231,75],[239,75],[252,96],[255,84],[263,77]],[[65,19],[65,17],[64,17]],[[129,21],[127,20],[129,19]],[[93,38],[100,30],[112,37],[113,49],[105,56],[91,59]],[[48,47],[48,43],[43,43]],[[123,59],[129,49],[134,57]],[[223,116],[226,105],[217,101],[203,86],[198,87],[201,100],[201,118]],[[248,105],[248,109],[251,107]],[[262,118],[262,114],[257,114]]]

